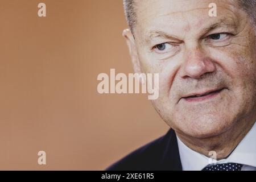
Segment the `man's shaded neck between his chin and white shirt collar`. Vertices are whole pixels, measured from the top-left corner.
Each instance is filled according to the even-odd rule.
[[[192,150],[210,157],[209,152],[215,151],[217,160],[227,158],[234,148],[241,142],[245,135],[250,131],[255,123],[255,119],[250,121],[237,122],[226,132],[208,138],[195,138],[179,131],[175,131],[180,140]]]

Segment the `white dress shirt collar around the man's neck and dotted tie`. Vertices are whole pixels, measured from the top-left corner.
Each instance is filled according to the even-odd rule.
[[[212,165],[211,158],[193,151],[181,142],[179,137],[177,137],[177,143],[183,171],[201,171],[206,166]],[[256,123],[228,158],[215,162],[214,164],[239,163],[243,164],[241,171],[256,171]]]

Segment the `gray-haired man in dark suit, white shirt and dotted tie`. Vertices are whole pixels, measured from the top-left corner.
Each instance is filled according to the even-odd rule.
[[[256,1],[123,0],[135,73],[170,129],[107,170],[256,170]],[[216,10],[211,14],[211,9]]]

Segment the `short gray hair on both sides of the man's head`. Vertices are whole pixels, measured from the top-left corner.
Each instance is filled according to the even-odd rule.
[[[254,27],[256,27],[256,0],[234,0],[238,2],[238,5],[246,11],[253,21]],[[123,7],[125,9],[125,15],[127,23],[133,31],[136,23],[136,4],[135,0],[123,0]]]

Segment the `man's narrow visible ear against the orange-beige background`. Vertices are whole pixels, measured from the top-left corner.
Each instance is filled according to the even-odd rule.
[[[127,46],[129,48],[131,62],[133,63],[134,72],[142,73],[141,64],[139,63],[139,57],[138,57],[138,52],[137,52],[137,48],[135,45],[133,33],[130,31],[130,29],[125,29],[125,30],[123,30],[123,37],[125,38]]]

